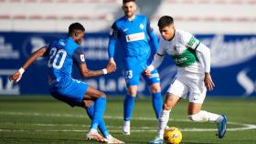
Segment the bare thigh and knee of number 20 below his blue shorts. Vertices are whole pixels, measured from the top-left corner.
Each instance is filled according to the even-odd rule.
[[[94,100],[96,98],[106,98],[106,94],[101,90],[96,89],[95,87],[89,86],[84,95],[84,100]]]

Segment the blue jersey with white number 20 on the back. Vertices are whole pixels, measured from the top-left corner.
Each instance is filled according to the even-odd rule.
[[[73,63],[85,63],[85,55],[72,38],[59,39],[48,46],[48,84],[67,87],[72,82]]]

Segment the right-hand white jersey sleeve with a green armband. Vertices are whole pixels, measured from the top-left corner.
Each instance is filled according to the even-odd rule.
[[[197,47],[200,45],[200,41],[195,36],[193,36],[188,32],[184,32],[182,35],[182,38],[185,46],[191,49],[197,50]]]

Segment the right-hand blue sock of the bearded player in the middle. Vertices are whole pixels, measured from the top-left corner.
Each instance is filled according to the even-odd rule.
[[[153,108],[155,110],[155,117],[159,118],[160,112],[163,107],[163,100],[162,100],[161,92],[152,94],[152,104],[153,104]]]

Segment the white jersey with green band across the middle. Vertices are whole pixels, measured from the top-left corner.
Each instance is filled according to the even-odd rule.
[[[204,63],[202,63],[200,54],[197,54],[199,40],[190,33],[176,29],[172,40],[167,41],[160,38],[157,55],[164,56],[168,54],[175,60],[177,66],[177,75],[194,73],[205,73]]]

